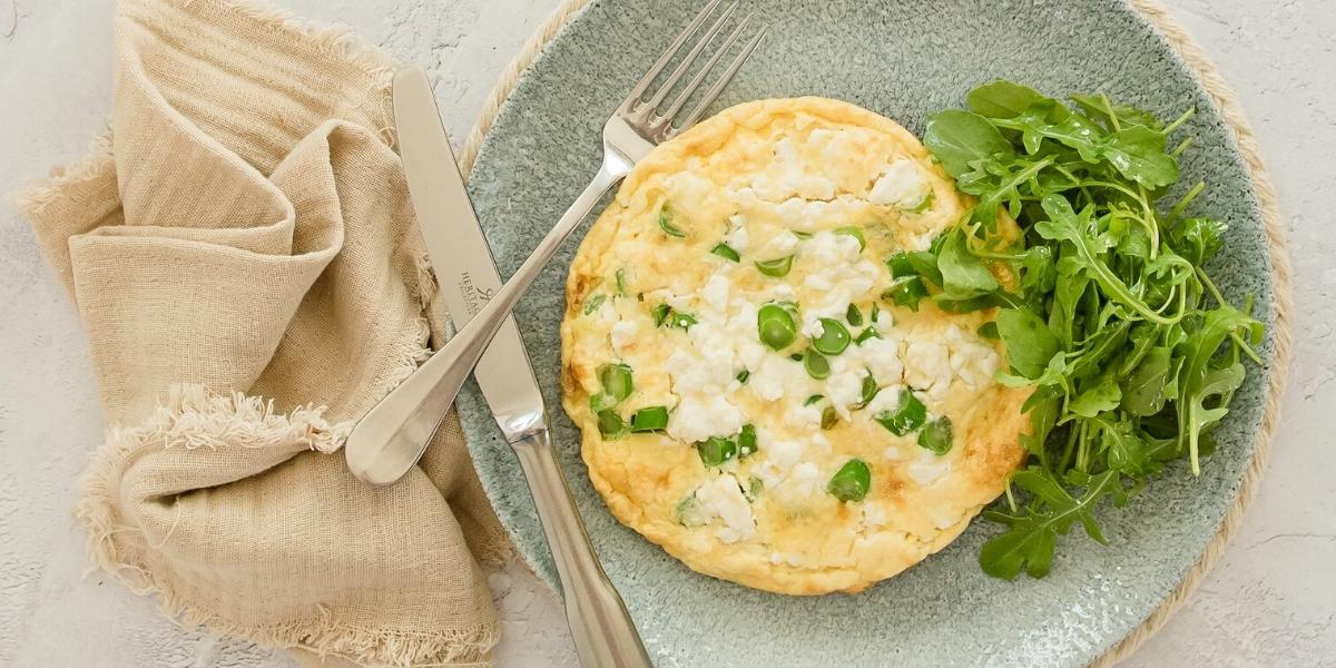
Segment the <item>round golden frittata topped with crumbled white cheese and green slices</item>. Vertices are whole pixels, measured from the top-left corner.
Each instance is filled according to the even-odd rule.
[[[1021,462],[991,310],[899,271],[967,203],[904,128],[820,98],[656,147],[570,267],[565,407],[625,525],[701,573],[858,592],[942,549]]]

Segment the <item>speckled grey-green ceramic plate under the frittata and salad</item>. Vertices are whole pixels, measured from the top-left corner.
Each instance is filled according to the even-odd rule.
[[[1188,106],[1182,182],[1206,180],[1202,211],[1229,222],[1213,275],[1234,299],[1272,285],[1259,206],[1218,110],[1174,49],[1121,0],[747,0],[771,37],[719,108],[822,95],[923,130],[973,86],[1007,77],[1065,95],[1104,90],[1172,118]],[[574,199],[600,160],[611,110],[696,12],[696,3],[595,1],[524,73],[492,127],[470,191],[504,275]],[[580,232],[577,232],[580,234]],[[1268,367],[1250,367],[1201,478],[1172,469],[1129,512],[1104,513],[1109,548],[1074,534],[1045,580],[979,572],[995,530],[977,521],[955,544],[858,596],[784,597],[696,574],[607,512],[578,456],[558,390],[562,287],[570,242],[521,301],[518,322],[552,413],[566,478],[608,574],[661,667],[1077,667],[1125,637],[1184,578],[1233,501],[1257,442]],[[1269,315],[1268,315],[1269,317]],[[1264,349],[1272,358],[1272,341]],[[520,468],[476,386],[460,410],[482,484],[521,554],[549,584],[552,558]]]

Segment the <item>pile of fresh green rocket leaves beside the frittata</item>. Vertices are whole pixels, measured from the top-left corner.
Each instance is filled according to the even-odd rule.
[[[1189,215],[1204,184],[1165,198],[1190,144],[1170,139],[1193,112],[1161,124],[1105,95],[1070,99],[994,81],[969,111],[931,116],[925,144],[977,204],[892,267],[896,303],[998,307],[999,379],[1034,387],[1027,464],[985,513],[1005,530],[979,562],[1002,578],[1043,577],[1075,524],[1105,542],[1097,512],[1165,462],[1198,474],[1244,361],[1260,361],[1250,303],[1230,303],[1204,269],[1226,228]]]

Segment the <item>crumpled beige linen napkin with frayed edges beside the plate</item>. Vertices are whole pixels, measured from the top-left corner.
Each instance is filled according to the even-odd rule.
[[[111,131],[20,206],[100,383],[98,566],[309,663],[484,665],[505,540],[457,420],[389,488],[337,452],[444,335],[391,67],[250,4],[122,0]]]

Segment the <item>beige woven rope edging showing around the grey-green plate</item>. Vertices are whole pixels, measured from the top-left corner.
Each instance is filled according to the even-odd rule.
[[[460,167],[464,174],[470,174],[473,171],[473,163],[477,160],[482,142],[492,130],[492,124],[496,122],[501,106],[505,104],[510,92],[514,91],[514,87],[524,76],[525,69],[533,64],[552,37],[565,27],[566,21],[584,9],[589,1],[591,0],[564,0],[561,5],[558,5],[552,15],[548,16],[542,25],[534,31],[514,60],[512,60],[505,71],[501,72],[500,80],[492,90],[488,100],[484,103],[482,110],[478,112],[478,119],[464,144],[460,158]],[[1188,596],[1192,595],[1198,584],[1201,584],[1204,576],[1212,569],[1212,566],[1214,566],[1216,561],[1224,553],[1224,549],[1233,537],[1244,513],[1248,510],[1253,497],[1257,494],[1263,472],[1265,470],[1267,461],[1271,457],[1271,441],[1275,436],[1276,425],[1280,422],[1280,406],[1284,399],[1285,383],[1289,375],[1291,355],[1292,287],[1285,228],[1280,218],[1276,188],[1272,186],[1271,175],[1268,174],[1267,166],[1261,158],[1257,139],[1253,135],[1246,116],[1244,115],[1242,106],[1238,103],[1238,98],[1234,95],[1233,90],[1220,75],[1220,71],[1216,69],[1216,65],[1206,57],[1205,52],[1197,45],[1188,31],[1178,24],[1168,8],[1160,4],[1158,0],[1125,1],[1136,9],[1152,28],[1165,37],[1165,40],[1174,48],[1178,57],[1182,59],[1184,64],[1186,64],[1186,67],[1197,75],[1201,81],[1201,87],[1208,95],[1210,95],[1212,102],[1214,102],[1216,107],[1220,110],[1221,118],[1224,118],[1229,124],[1238,154],[1246,163],[1248,175],[1252,179],[1253,191],[1257,196],[1257,204],[1261,210],[1263,223],[1265,226],[1267,255],[1271,263],[1272,290],[1275,291],[1272,295],[1272,335],[1275,341],[1275,357],[1271,362],[1271,382],[1267,389],[1267,407],[1263,414],[1261,429],[1257,432],[1257,442],[1253,444],[1252,458],[1238,481],[1238,490],[1236,492],[1229,509],[1225,512],[1225,516],[1220,522],[1220,528],[1206,544],[1205,549],[1202,549],[1197,561],[1184,576],[1178,587],[1176,587],[1173,592],[1170,592],[1169,596],[1160,603],[1160,605],[1145,619],[1145,621],[1133,628],[1132,632],[1129,632],[1121,641],[1096,659],[1090,664],[1092,668],[1106,668],[1117,664],[1126,656],[1130,656],[1138,647],[1141,647],[1142,643],[1146,641],[1146,639],[1160,631],[1173,612],[1182,605]]]

